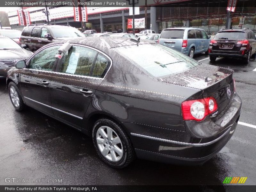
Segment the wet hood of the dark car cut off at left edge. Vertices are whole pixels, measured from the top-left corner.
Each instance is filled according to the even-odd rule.
[[[0,60],[29,58],[33,52],[26,49],[0,50]]]

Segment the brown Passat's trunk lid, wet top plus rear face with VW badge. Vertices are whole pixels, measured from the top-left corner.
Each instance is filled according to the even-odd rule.
[[[204,98],[215,98],[218,104],[218,114],[220,114],[226,112],[234,95],[233,72],[227,68],[200,64],[187,71],[162,77],[160,80],[202,90]]]

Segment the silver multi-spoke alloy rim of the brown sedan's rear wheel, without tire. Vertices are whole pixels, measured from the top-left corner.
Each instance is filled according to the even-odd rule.
[[[101,126],[96,133],[96,141],[100,153],[109,161],[117,162],[123,157],[123,144],[110,127]]]

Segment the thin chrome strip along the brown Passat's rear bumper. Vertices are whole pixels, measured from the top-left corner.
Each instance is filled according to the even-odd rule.
[[[228,130],[225,133],[223,133],[220,137],[218,137],[217,139],[212,140],[210,142],[207,142],[207,143],[185,143],[185,142],[180,142],[180,141],[173,141],[173,140],[162,139],[162,138],[157,138],[157,137],[152,137],[152,136],[147,136],[147,135],[141,135],[141,134],[137,134],[137,133],[131,133],[131,135],[136,136],[136,137],[146,138],[146,139],[152,139],[152,140],[157,140],[157,141],[162,141],[162,142],[167,142],[167,143],[173,143],[173,144],[177,144],[177,145],[202,147],[202,146],[211,145],[211,144],[217,142],[218,140],[220,140],[222,137],[224,137],[230,131],[232,125],[229,125]],[[230,133],[230,134],[232,134],[232,133]]]

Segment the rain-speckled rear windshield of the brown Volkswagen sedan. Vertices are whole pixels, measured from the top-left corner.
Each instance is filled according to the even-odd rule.
[[[196,60],[161,44],[130,45],[114,49],[155,77],[169,76],[199,65]]]

